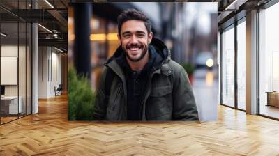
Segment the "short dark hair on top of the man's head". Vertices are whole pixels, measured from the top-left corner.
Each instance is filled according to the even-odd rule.
[[[151,21],[149,20],[144,13],[135,10],[135,9],[128,9],[123,10],[123,12],[117,17],[118,22],[118,34],[120,36],[122,24],[128,20],[140,20],[144,22],[144,25],[147,29],[147,32],[151,32]]]

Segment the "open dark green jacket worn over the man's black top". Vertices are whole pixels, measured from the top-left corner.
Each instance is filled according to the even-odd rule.
[[[197,106],[186,71],[172,61],[169,50],[160,40],[153,38],[159,65],[154,66],[147,82],[142,102],[142,120],[199,120]],[[122,68],[115,58],[122,53],[119,47],[105,63],[100,77],[93,117],[95,120],[126,120],[127,87]],[[158,60],[157,60],[158,61]],[[110,95],[105,95],[107,69],[114,72]]]

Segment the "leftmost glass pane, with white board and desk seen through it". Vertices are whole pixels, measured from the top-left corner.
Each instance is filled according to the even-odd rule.
[[[18,100],[18,24],[1,23],[1,124],[17,118],[22,105]]]

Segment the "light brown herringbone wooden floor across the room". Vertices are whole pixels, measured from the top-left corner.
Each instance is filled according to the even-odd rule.
[[[0,155],[279,155],[279,122],[218,107],[205,123],[67,120],[66,95],[0,126]]]

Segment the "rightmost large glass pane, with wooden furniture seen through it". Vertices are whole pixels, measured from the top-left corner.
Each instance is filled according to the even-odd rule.
[[[279,3],[259,12],[259,114],[279,118]]]

